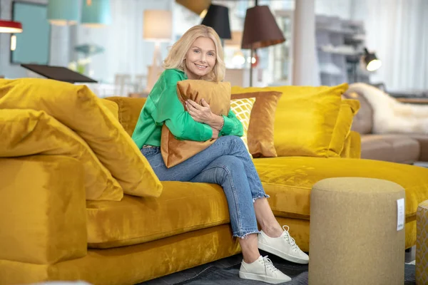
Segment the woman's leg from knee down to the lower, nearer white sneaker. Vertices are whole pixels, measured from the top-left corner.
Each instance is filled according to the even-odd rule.
[[[240,278],[274,284],[290,281],[290,277],[276,269],[270,259],[260,256],[253,193],[243,162],[233,155],[218,157],[191,181],[215,183],[223,187],[228,198],[233,236],[238,237],[243,252]]]

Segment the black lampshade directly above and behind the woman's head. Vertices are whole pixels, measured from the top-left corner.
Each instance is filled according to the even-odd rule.
[[[201,24],[213,28],[220,38],[232,38],[228,7],[211,4]]]

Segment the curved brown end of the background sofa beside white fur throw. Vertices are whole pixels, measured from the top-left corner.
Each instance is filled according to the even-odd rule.
[[[373,109],[367,99],[357,92],[350,91],[345,92],[343,97],[360,101],[360,110],[354,117],[354,121],[352,122],[352,130],[355,130],[362,135],[372,133]]]

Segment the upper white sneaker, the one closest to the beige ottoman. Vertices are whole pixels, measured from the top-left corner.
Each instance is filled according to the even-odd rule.
[[[269,237],[263,231],[258,234],[258,248],[275,254],[282,259],[298,264],[308,264],[309,257],[297,246],[295,239],[288,233],[288,226],[283,226],[280,237]]]

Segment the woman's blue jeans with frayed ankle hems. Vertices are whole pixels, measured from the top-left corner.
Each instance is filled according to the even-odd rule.
[[[228,199],[233,237],[259,233],[253,202],[266,197],[243,140],[235,135],[220,137],[213,145],[167,168],[160,147],[142,148],[161,181],[205,182],[223,187]]]

